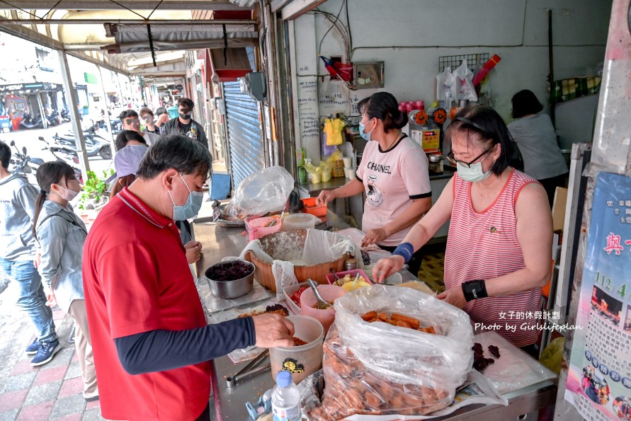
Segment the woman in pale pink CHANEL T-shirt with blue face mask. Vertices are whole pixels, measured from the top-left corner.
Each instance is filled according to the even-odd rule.
[[[335,190],[322,190],[317,205],[336,197],[366,192],[362,247],[376,244],[392,252],[411,226],[431,207],[428,161],[418,143],[401,132],[407,114],[391,93],[374,93],[360,100],[359,134],[368,144],[356,177]],[[370,142],[374,141],[374,142]],[[423,255],[419,250],[409,262],[409,271],[419,274]]]

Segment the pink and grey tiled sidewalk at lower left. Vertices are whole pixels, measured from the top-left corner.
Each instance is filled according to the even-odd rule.
[[[13,304],[11,287],[0,294],[0,421],[103,420],[101,403],[84,400],[74,344],[67,343],[72,318],[53,311],[62,349],[48,364],[31,367],[24,353],[33,326]]]

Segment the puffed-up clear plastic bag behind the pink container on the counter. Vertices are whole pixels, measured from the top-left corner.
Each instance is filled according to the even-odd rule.
[[[264,168],[248,175],[230,202],[230,212],[244,215],[264,215],[285,207],[294,178],[281,166]]]

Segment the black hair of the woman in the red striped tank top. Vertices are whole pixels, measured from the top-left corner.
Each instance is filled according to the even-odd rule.
[[[508,132],[506,123],[496,110],[488,105],[470,105],[462,108],[457,113],[453,122],[447,129],[448,139],[453,137],[455,132],[464,132],[467,134],[467,142],[481,142],[486,149],[499,144],[501,153],[499,158],[491,166],[491,171],[495,175],[500,175],[511,163],[513,157],[513,138]]]

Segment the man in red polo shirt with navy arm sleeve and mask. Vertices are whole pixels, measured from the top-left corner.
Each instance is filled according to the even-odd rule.
[[[174,219],[198,212],[211,161],[187,137],[160,139],[86,239],[86,310],[103,417],[208,420],[210,359],[251,345],[293,345],[293,325],[276,314],[206,325]]]

